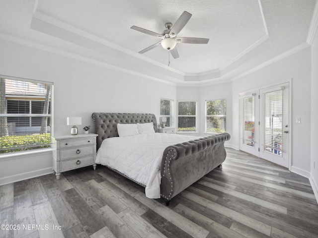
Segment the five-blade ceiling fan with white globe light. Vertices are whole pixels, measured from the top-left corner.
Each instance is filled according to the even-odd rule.
[[[161,39],[158,43],[147,47],[146,49],[140,51],[140,54],[144,54],[157,46],[161,45],[163,49],[170,51],[172,57],[174,59],[179,58],[179,54],[176,48],[177,43],[187,43],[187,44],[208,44],[209,39],[206,38],[194,38],[194,37],[177,37],[177,34],[182,30],[182,28],[187,24],[192,14],[187,11],[184,11],[178,20],[172,25],[172,23],[168,22],[165,24],[166,30],[164,30],[161,34],[146,30],[144,28],[138,26],[132,26],[131,29],[140,31],[142,33],[156,36]]]

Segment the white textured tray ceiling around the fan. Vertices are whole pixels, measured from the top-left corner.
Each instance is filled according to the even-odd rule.
[[[0,0],[0,38],[32,43],[100,64],[175,82],[235,77],[306,42],[316,0]],[[207,45],[177,44],[178,59],[157,47],[161,33],[183,11],[192,17],[178,37],[209,38]],[[19,39],[19,40],[17,40]],[[22,40],[22,41],[21,41]],[[149,66],[151,65],[151,66]],[[170,71],[164,73],[163,71]],[[164,80],[164,79],[163,79]]]

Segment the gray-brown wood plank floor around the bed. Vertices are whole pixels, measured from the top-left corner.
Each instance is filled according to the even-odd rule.
[[[318,205],[308,179],[227,152],[221,168],[168,207],[102,166],[63,173],[60,180],[52,174],[2,185],[0,225],[20,229],[0,230],[0,237],[318,237]]]

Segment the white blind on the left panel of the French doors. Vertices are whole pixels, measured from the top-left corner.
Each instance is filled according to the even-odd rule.
[[[240,99],[243,123],[243,144],[254,147],[255,144],[255,95]]]

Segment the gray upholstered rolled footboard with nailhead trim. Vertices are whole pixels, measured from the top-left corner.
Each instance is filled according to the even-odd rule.
[[[221,133],[171,145],[164,150],[160,195],[167,205],[172,197],[225,161],[224,142],[229,139],[230,134]]]

